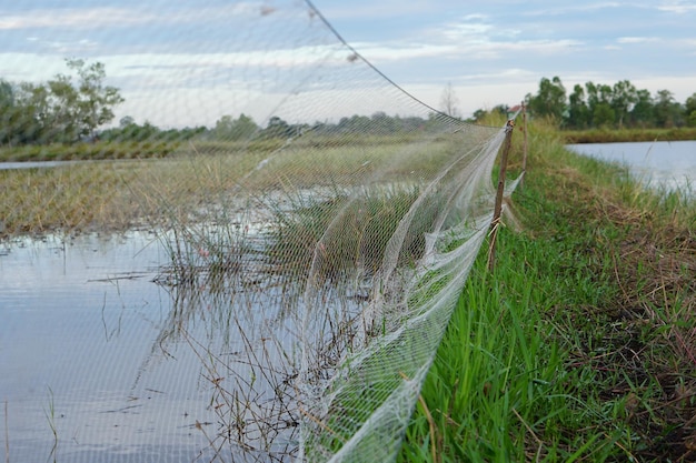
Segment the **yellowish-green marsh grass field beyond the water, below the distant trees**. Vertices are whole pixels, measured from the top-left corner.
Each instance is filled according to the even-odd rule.
[[[409,140],[389,141],[331,145],[322,140],[315,145],[307,140],[286,148],[282,154],[269,147],[246,151],[239,143],[200,143],[147,159],[139,158],[140,147],[122,159],[0,170],[0,238],[181,224],[191,214],[200,218],[207,207],[229,201],[242,184],[258,191],[334,188],[361,182],[366,173],[376,170],[386,172],[387,180],[398,181],[412,172],[431,173],[449,159],[448,150],[461,149],[460,141],[435,140],[424,153],[405,150]],[[98,144],[87,147],[97,149]],[[82,154],[67,153],[43,160],[57,159],[84,160]],[[261,162],[264,169],[247,177]]]

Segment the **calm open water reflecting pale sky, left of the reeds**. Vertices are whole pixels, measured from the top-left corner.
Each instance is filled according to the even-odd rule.
[[[7,461],[236,461],[220,391],[271,401],[248,353],[277,356],[262,339],[282,339],[288,322],[249,286],[256,310],[230,316],[237,302],[205,281],[189,295],[157,284],[169,262],[148,232],[0,244]]]

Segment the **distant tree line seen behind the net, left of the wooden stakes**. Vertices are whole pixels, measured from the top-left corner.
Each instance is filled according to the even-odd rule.
[[[66,59],[68,73],[59,73],[42,83],[12,83],[0,79],[0,145],[74,143],[79,141],[182,141],[193,137],[206,140],[247,140],[298,137],[308,132],[390,134],[414,130],[434,130],[437,113],[419,117],[371,115],[341,118],[338,122],[290,123],[274,115],[264,125],[246,114],[226,114],[215,127],[162,130],[127,115],[108,129],[113,109],[125,99],[120,90],[107,85],[106,69],[100,62]]]

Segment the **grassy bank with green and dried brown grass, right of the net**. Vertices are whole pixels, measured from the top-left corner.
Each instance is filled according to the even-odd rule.
[[[696,460],[696,204],[531,128],[399,461]]]

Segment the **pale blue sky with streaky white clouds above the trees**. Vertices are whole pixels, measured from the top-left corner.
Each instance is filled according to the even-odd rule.
[[[389,111],[392,93],[378,88],[361,61],[355,64],[301,0],[3,3],[0,78],[46,81],[66,73],[71,57],[103,62],[106,83],[126,98],[117,119],[183,127],[245,111],[259,121],[274,112],[301,120],[378,107],[406,111],[399,104]],[[652,93],[669,90],[678,102],[696,93],[696,0],[314,6],[361,57],[424,103],[443,109],[451,85],[465,118],[514,105],[555,76],[568,93],[577,83],[620,80]],[[324,110],[306,110],[299,93]]]

